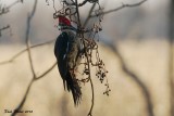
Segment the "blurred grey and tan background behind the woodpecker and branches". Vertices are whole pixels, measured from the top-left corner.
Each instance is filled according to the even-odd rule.
[[[83,1],[83,0],[79,0]],[[104,11],[116,9],[122,3],[140,0],[99,0]],[[15,0],[0,0],[0,8]],[[49,4],[49,5],[48,5]],[[173,5],[172,5],[173,4]],[[28,13],[34,0],[24,0],[0,15],[0,62],[10,60],[26,49],[25,34]],[[80,8],[85,21],[91,3]],[[55,0],[55,8],[61,9]],[[103,95],[104,86],[96,76],[94,116],[174,116],[173,94],[173,0],[148,0],[135,8],[124,8],[105,14],[99,33],[99,52],[109,70],[110,95]],[[38,0],[30,22],[32,44],[55,40],[60,30],[54,27],[52,0]],[[89,21],[94,22],[95,18]],[[90,26],[90,23],[88,26]],[[54,62],[54,41],[32,49],[34,68],[39,75]],[[14,109],[22,101],[32,80],[27,53],[14,62],[0,64],[0,116],[10,116],[4,109]],[[90,108],[90,85],[83,86],[83,101],[74,107],[71,93],[64,92],[63,82],[55,68],[30,88],[24,111],[33,113],[17,116],[86,116]],[[172,114],[173,113],[173,114]]]

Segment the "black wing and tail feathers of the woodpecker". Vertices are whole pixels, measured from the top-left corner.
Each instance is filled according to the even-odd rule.
[[[63,79],[64,89],[72,91],[74,103],[77,105],[82,98],[82,91],[78,81],[71,75],[69,70],[70,61],[66,59],[66,55],[71,56],[69,51],[72,51],[70,49],[73,49],[73,47],[71,47],[72,44],[69,43],[70,39],[72,39],[71,36],[65,31],[57,38],[54,55],[58,61],[60,75]]]

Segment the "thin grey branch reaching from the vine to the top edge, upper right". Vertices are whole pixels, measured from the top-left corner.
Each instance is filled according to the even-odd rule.
[[[116,9],[113,9],[113,10],[109,10],[109,11],[103,11],[102,13],[99,13],[99,14],[92,14],[90,15],[90,17],[96,17],[96,16],[99,16],[99,15],[105,15],[105,14],[109,14],[109,13],[113,13],[113,12],[116,12],[119,10],[122,10],[124,8],[134,8],[134,7],[138,7],[140,4],[142,4],[144,2],[146,2],[147,0],[142,0],[140,2],[137,2],[137,3],[133,3],[133,4],[127,4],[127,3],[122,3],[121,7],[116,8]]]

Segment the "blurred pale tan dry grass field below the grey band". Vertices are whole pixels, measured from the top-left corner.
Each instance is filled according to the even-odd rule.
[[[128,68],[136,73],[150,91],[156,116],[169,116],[167,42],[159,39],[142,41],[123,40],[116,42]],[[0,61],[4,61],[22,50],[18,46],[0,46]],[[37,74],[42,73],[55,61],[53,44],[33,49]],[[101,44],[100,55],[109,70],[110,96],[102,94],[104,86],[97,77],[95,82],[94,116],[147,116],[146,101],[138,86],[125,75],[116,55],[110,48]],[[14,62],[0,65],[0,116],[10,116],[4,109],[14,109],[21,102],[32,79],[27,55]],[[64,92],[62,79],[57,68],[36,81],[23,109],[33,113],[18,116],[86,116],[90,107],[90,86],[83,89],[83,101],[74,107],[71,93]]]

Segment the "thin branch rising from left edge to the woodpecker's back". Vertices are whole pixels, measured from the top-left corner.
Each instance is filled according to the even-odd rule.
[[[46,46],[46,44],[52,43],[53,41],[54,40],[50,40],[50,41],[47,41],[47,42],[44,42],[44,43],[30,46],[30,49],[38,48],[38,47],[41,47],[41,46]],[[21,56],[26,51],[27,51],[27,49],[24,49],[24,50],[20,51],[18,53],[14,54],[10,60],[0,62],[0,65],[13,62],[15,59],[17,59],[18,56]]]

